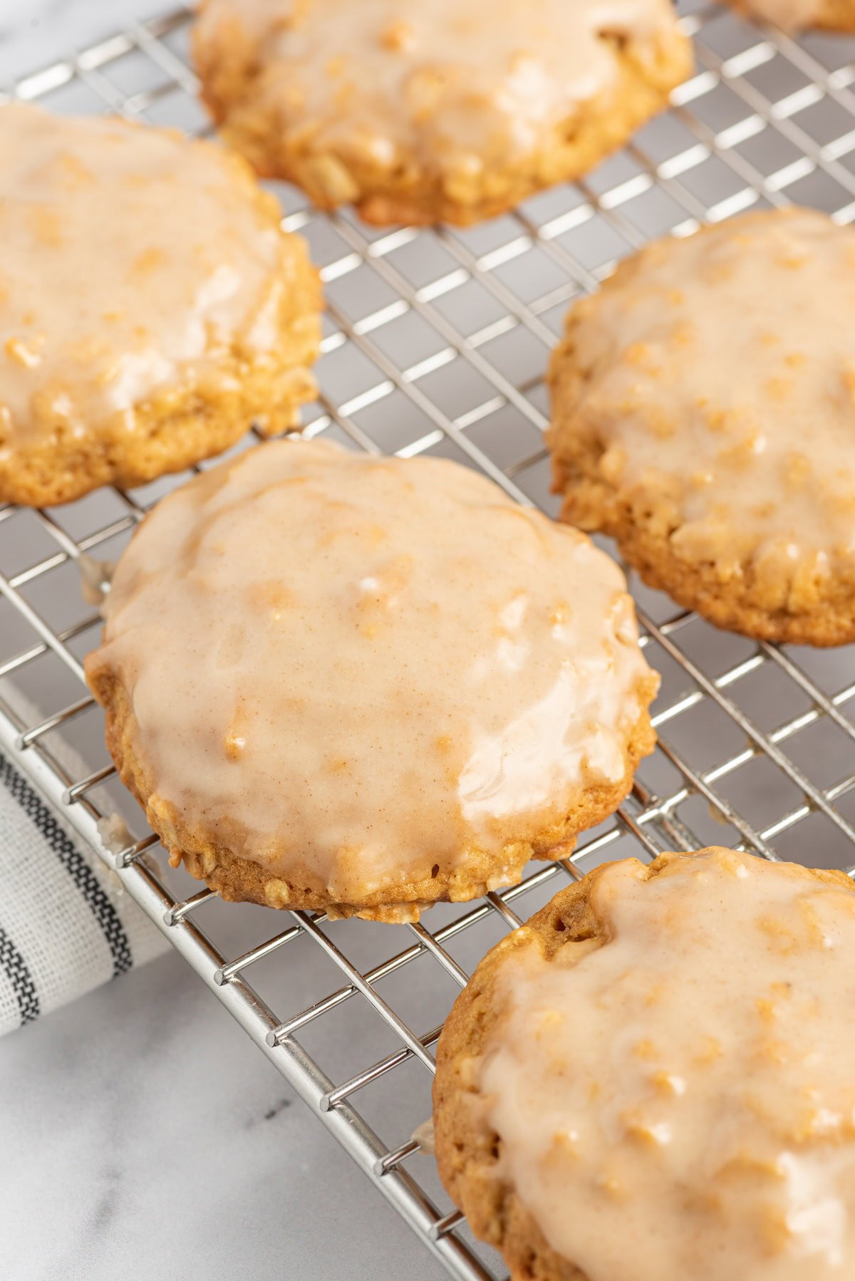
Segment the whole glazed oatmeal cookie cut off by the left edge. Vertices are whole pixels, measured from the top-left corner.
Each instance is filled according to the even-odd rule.
[[[245,161],[0,108],[0,501],[140,484],[297,421],[320,291]]]

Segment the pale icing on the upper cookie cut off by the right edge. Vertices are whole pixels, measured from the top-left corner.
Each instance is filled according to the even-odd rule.
[[[855,576],[855,229],[749,214],[650,246],[581,309],[569,430],[633,507],[674,512],[677,556],[722,580],[751,561],[784,596]]]

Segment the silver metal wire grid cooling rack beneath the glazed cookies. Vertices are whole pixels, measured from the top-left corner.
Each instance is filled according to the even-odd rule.
[[[327,291],[310,434],[455,457],[554,512],[542,371],[573,297],[652,236],[685,236],[752,205],[792,200],[855,218],[855,44],[793,42],[709,5],[682,13],[697,68],[672,110],[585,182],[481,228],[369,232],[276,188],[285,225],[308,236]],[[135,26],[8,92],[200,132],[187,24],[182,10]],[[140,829],[82,684],[81,657],[100,620],[82,605],[76,562],[115,556],[182,479],[101,491],[50,512],[0,509],[0,747],[118,872],[447,1271],[497,1276],[501,1262],[472,1240],[433,1163],[408,1138],[429,1114],[432,1048],[456,990],[502,931],[604,858],[715,842],[851,871],[852,648],[756,644],[633,584],[642,643],[664,678],[660,743],[632,797],[572,858],[410,926],[224,907],[209,890],[192,892]],[[114,811],[135,829],[118,853],[96,828]]]

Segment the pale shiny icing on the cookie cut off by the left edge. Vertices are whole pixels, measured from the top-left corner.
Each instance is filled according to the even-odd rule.
[[[210,143],[0,108],[0,450],[270,350],[282,236]]]

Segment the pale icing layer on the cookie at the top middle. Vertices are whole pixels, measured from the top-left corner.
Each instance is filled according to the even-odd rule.
[[[200,45],[235,20],[253,87],[314,152],[420,159],[472,178],[542,142],[614,79],[614,44],[672,31],[667,0],[208,0]]]

